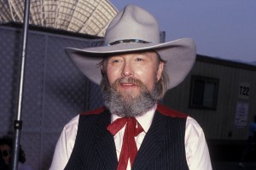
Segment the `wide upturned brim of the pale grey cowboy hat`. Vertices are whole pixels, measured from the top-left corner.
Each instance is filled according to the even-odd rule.
[[[183,82],[195,63],[195,42],[190,38],[158,44],[134,42],[95,48],[66,48],[68,56],[79,71],[96,84],[102,81],[102,71],[97,65],[104,57],[144,50],[154,50],[160,54],[161,59],[166,60],[165,69],[170,80],[169,89]]]

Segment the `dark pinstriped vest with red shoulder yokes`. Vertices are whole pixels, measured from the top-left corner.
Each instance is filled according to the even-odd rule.
[[[188,170],[184,145],[186,117],[158,105],[132,169]],[[79,116],[78,133],[66,170],[117,168],[113,135],[107,130],[110,122],[111,114],[105,108]]]

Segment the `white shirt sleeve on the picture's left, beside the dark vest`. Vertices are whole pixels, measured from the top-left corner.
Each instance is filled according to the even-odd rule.
[[[49,170],[64,169],[71,156],[79,124],[79,115],[75,116],[63,128],[55,146],[55,153]]]

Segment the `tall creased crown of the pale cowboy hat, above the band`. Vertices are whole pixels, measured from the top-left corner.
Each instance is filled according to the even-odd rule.
[[[126,6],[117,14],[106,31],[105,44],[125,39],[139,39],[159,43],[160,31],[152,14],[134,5]]]

